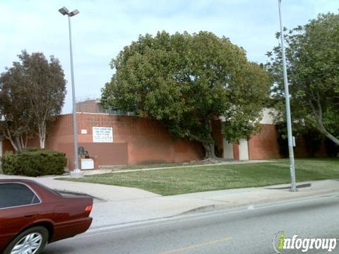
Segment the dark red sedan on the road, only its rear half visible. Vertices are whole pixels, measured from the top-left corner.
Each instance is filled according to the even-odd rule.
[[[85,232],[93,198],[60,195],[30,180],[0,180],[0,253],[37,254]]]

